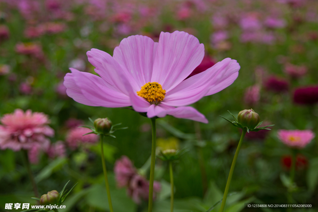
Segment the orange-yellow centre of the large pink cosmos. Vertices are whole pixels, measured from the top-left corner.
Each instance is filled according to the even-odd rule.
[[[137,91],[137,95],[145,98],[150,104],[158,105],[166,95],[166,90],[163,90],[157,82],[149,82]]]

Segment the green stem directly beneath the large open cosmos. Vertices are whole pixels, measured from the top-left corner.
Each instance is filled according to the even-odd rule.
[[[152,195],[154,191],[155,161],[156,161],[156,117],[151,118],[152,144],[151,144],[151,164],[149,180],[149,204],[148,212],[152,211]]]

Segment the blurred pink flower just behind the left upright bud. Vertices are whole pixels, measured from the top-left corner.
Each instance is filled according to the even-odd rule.
[[[69,130],[66,135],[66,143],[71,149],[76,149],[81,144],[93,144],[98,140],[98,136],[96,134],[88,134],[92,130],[84,127],[77,127]],[[84,135],[84,136],[83,136]]]

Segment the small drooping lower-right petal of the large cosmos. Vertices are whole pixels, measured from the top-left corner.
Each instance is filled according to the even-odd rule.
[[[208,123],[208,120],[205,118],[205,116],[202,113],[199,113],[195,108],[189,107],[189,106],[175,107],[169,110],[167,115],[171,115],[181,119],[190,119],[194,121]]]

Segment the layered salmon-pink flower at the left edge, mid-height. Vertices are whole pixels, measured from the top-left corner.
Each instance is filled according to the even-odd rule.
[[[44,113],[16,109],[14,113],[5,114],[0,125],[0,148],[19,151],[29,150],[33,146],[47,149],[50,140],[47,138],[54,135],[54,130],[48,126],[48,116]]]

